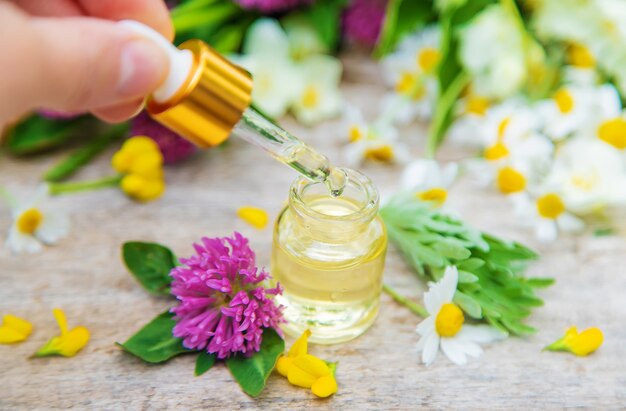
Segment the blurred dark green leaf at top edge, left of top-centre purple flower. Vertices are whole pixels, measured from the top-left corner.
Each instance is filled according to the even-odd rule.
[[[328,50],[337,48],[341,34],[341,12],[346,3],[346,0],[318,1],[302,14],[315,28]]]

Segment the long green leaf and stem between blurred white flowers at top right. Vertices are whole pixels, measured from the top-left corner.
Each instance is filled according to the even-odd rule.
[[[472,0],[441,13],[441,60],[437,68],[439,98],[435,107],[436,115],[429,130],[427,147],[427,153],[431,157],[443,141],[453,120],[454,105],[469,83],[469,75],[459,61],[458,31],[485,7],[495,2],[496,0]]]

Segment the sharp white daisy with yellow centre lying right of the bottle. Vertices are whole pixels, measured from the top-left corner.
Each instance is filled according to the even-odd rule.
[[[424,294],[424,305],[430,316],[417,326],[417,333],[421,336],[417,351],[422,353],[422,362],[426,365],[433,363],[439,347],[450,361],[463,365],[467,356],[482,354],[479,344],[507,336],[487,325],[464,324],[463,311],[453,302],[458,276],[456,267],[447,267],[443,278],[430,283]]]

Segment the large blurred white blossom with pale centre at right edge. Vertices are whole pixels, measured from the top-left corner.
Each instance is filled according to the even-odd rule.
[[[568,141],[559,150],[546,184],[558,190],[568,209],[579,214],[626,204],[623,157],[597,139]]]

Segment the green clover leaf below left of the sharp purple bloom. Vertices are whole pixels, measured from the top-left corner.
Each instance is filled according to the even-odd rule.
[[[182,339],[172,335],[176,325],[169,311],[156,317],[124,344],[118,343],[127,353],[149,363],[161,363],[180,354],[193,351],[183,347]]]

